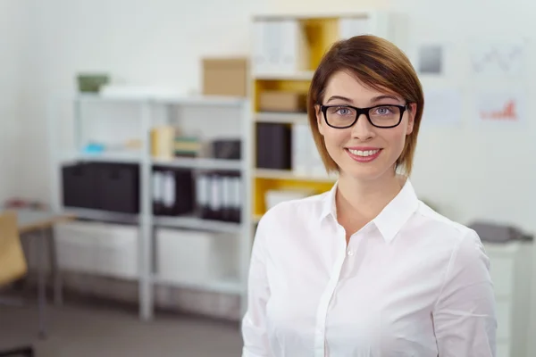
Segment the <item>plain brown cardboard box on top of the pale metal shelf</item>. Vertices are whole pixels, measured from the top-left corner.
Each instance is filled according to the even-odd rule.
[[[205,58],[203,94],[247,96],[247,59]]]

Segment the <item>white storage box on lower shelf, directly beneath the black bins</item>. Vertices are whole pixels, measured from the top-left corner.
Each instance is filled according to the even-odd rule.
[[[138,278],[138,228],[71,221],[54,226],[58,263],[63,270],[113,278]]]

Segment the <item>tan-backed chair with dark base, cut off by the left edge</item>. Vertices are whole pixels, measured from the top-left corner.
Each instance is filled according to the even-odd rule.
[[[0,286],[7,286],[22,278],[28,265],[22,251],[21,238],[15,212],[0,213]],[[0,301],[1,303],[1,301]],[[0,357],[33,357],[31,345],[0,350]]]

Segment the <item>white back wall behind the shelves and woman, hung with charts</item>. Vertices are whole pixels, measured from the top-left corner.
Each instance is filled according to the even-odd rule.
[[[528,117],[523,129],[501,130],[482,130],[470,124],[474,117],[472,104],[479,90],[522,87],[527,99],[531,99],[536,90],[536,69],[529,67],[522,82],[477,84],[467,79],[472,38],[528,37],[528,62],[534,62],[536,3],[496,0],[492,6],[484,0],[202,0],[188,4],[173,0],[29,1],[32,37],[21,123],[28,140],[21,145],[18,179],[21,189],[30,196],[48,199],[46,103],[50,95],[73,93],[76,71],[109,71],[117,78],[140,84],[195,91],[200,87],[200,56],[247,54],[252,12],[350,12],[362,6],[382,7],[406,16],[410,45],[426,41],[448,44],[448,65],[453,70],[448,79],[423,78],[423,84],[456,86],[464,99],[462,129],[423,128],[413,175],[418,193],[454,220],[466,223],[492,217],[536,232],[532,217],[536,198],[532,158],[536,144],[531,138],[536,137],[536,122]],[[3,14],[0,12],[0,16]],[[0,23],[5,26],[4,21]],[[411,52],[412,47],[406,49]],[[534,277],[536,287],[536,274]],[[532,314],[536,321],[536,308]],[[532,355],[536,355],[536,345]]]

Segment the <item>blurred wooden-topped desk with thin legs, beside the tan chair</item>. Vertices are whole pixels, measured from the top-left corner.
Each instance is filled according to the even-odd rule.
[[[14,210],[17,212],[19,235],[34,237],[38,242],[38,314],[39,314],[39,336],[46,336],[45,308],[46,308],[46,277],[45,277],[45,243],[48,243],[48,253],[50,254],[50,264],[54,274],[54,303],[61,304],[62,279],[56,256],[54,242],[54,224],[65,220],[72,220],[73,217],[59,215],[54,212],[35,211],[28,209]]]

